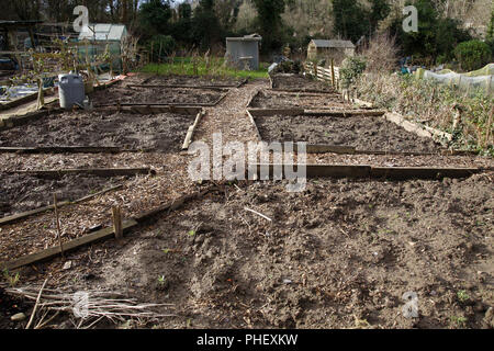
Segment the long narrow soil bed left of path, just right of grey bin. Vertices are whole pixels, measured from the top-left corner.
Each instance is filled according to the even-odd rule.
[[[105,90],[96,91],[91,95],[94,106],[116,103],[160,103],[160,104],[211,104],[215,103],[223,92],[184,88],[127,88],[115,84]]]

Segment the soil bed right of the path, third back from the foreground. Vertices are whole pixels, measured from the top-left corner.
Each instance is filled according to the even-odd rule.
[[[355,106],[345,103],[341,95],[311,94],[311,93],[277,93],[273,91],[259,91],[251,100],[249,107],[254,109],[287,109],[300,107],[307,110],[352,110]]]

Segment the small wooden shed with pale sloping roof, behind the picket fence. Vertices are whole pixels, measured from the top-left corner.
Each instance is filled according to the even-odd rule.
[[[312,39],[307,47],[307,59],[334,59],[335,65],[355,55],[355,45],[350,41]]]

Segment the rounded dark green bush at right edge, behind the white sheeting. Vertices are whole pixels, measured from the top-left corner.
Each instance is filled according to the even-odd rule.
[[[454,56],[465,71],[482,68],[491,60],[491,47],[481,41],[460,43],[454,48]]]

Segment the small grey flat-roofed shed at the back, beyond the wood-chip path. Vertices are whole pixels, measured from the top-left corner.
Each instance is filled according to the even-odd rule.
[[[229,65],[238,69],[259,69],[259,44],[262,37],[258,34],[226,38],[226,58]]]

